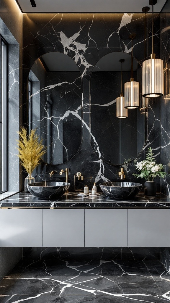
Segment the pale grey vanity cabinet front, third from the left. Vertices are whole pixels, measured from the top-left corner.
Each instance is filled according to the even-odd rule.
[[[85,209],[87,246],[127,246],[127,209]]]

